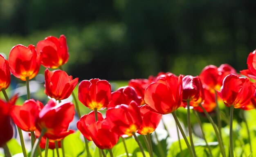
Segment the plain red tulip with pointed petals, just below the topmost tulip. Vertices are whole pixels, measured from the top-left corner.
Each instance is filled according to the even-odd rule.
[[[72,80],[72,76],[67,75],[65,71],[45,69],[45,89],[49,97],[56,100],[67,99],[77,83],[78,78]]]

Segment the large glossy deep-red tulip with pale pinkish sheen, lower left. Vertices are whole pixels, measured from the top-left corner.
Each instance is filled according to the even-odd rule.
[[[36,128],[41,132],[46,130],[44,137],[61,140],[74,130],[67,130],[75,115],[72,102],[56,104],[55,99],[49,100],[36,118]]]

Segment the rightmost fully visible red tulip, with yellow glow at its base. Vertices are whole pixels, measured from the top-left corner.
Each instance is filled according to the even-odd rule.
[[[229,74],[223,80],[220,91],[217,91],[228,107],[240,108],[249,104],[255,92],[255,86],[245,77]]]

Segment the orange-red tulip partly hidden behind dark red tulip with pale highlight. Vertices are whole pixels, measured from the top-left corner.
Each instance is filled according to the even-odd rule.
[[[191,102],[191,106],[195,106],[193,109],[203,113],[204,111],[200,106],[192,105],[193,102]],[[207,88],[204,88],[204,101],[202,102],[202,106],[207,112],[211,112],[216,107],[216,99],[215,94],[209,91]]]

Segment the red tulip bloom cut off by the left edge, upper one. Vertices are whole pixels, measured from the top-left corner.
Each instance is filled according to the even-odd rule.
[[[2,88],[7,89],[11,83],[11,72],[8,61],[0,54],[0,91]]]

